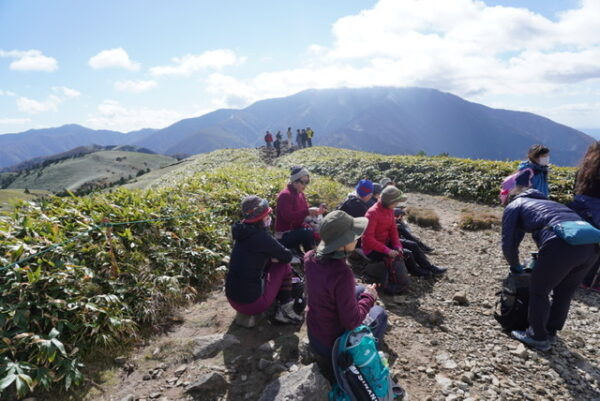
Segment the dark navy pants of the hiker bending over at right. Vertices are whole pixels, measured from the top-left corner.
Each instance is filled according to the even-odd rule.
[[[542,245],[529,288],[529,329],[534,339],[547,340],[549,333],[562,330],[571,299],[598,255],[595,244],[572,246],[558,237]]]

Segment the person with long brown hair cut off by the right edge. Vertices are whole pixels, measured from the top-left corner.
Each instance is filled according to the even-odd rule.
[[[600,141],[594,142],[575,176],[575,198],[568,205],[582,219],[600,228]],[[600,258],[583,279],[581,286],[600,292]]]

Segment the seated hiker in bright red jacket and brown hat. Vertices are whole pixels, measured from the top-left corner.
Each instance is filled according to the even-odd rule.
[[[383,284],[382,290],[388,293],[401,293],[410,284],[394,217],[394,208],[404,200],[398,188],[388,186],[365,215],[369,224],[362,237],[362,249],[372,261],[382,262],[367,264],[365,273]]]

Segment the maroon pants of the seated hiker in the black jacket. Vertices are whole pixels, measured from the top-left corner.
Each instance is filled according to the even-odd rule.
[[[290,301],[292,292],[292,265],[289,263],[271,263],[263,278],[263,294],[250,304],[240,304],[228,299],[229,304],[236,311],[244,315],[258,315],[263,313],[280,298],[280,293],[287,293],[289,299],[279,299],[282,303]]]

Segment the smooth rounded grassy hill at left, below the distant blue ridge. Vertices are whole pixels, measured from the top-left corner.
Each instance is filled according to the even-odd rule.
[[[175,163],[176,159],[147,153],[103,151],[61,160],[17,173],[7,188],[78,191],[124,183],[138,174]]]

